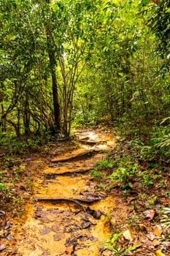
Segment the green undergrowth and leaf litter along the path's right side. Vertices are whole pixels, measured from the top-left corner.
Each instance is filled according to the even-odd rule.
[[[109,192],[112,192],[112,189],[120,189],[125,198],[133,198],[134,214],[131,214],[128,225],[137,230],[136,233],[144,222],[142,212],[147,209],[150,222],[154,218],[154,225],[161,225],[162,233],[158,240],[159,248],[164,252],[169,252],[170,248],[170,209],[166,203],[170,200],[169,141],[167,127],[157,129],[148,143],[139,138],[117,141],[117,146],[109,157],[107,156],[103,162],[96,163],[91,172],[91,176],[99,183],[98,187]],[[152,212],[155,217],[152,216]],[[148,228],[153,228],[152,225]],[[120,233],[119,227],[117,231],[114,233],[113,230],[112,238],[104,244],[105,248],[114,252],[114,255],[126,255],[135,251],[137,246],[123,247],[123,242],[120,241],[122,228],[120,227]],[[158,249],[156,252],[158,254],[161,250]]]

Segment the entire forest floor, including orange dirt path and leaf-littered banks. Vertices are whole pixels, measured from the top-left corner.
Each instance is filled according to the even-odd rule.
[[[0,255],[170,255],[169,165],[150,169],[105,129],[77,130],[22,161],[0,156]]]

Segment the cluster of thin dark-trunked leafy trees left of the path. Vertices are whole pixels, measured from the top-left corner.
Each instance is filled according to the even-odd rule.
[[[53,132],[58,118],[69,136],[75,86],[93,50],[100,9],[88,0],[1,1],[4,130]]]

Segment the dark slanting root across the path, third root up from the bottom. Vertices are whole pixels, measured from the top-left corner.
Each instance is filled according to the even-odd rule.
[[[76,154],[76,155],[73,155],[73,156],[68,156],[68,157],[63,157],[63,158],[58,158],[58,159],[52,159],[51,162],[67,162],[67,161],[73,161],[73,160],[76,160],[76,159],[84,159],[85,157],[91,157],[93,156],[93,154],[96,154],[98,152],[100,152],[101,150],[88,150],[88,151],[85,151],[85,152],[82,152],[80,154]]]

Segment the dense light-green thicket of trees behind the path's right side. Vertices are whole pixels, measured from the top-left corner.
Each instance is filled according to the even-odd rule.
[[[77,87],[75,110],[83,124],[98,124],[106,116],[121,135],[150,135],[169,113],[169,74],[164,79],[159,74],[163,61],[154,53],[155,37],[142,25],[137,1],[112,10],[111,15],[108,4],[98,45]]]

